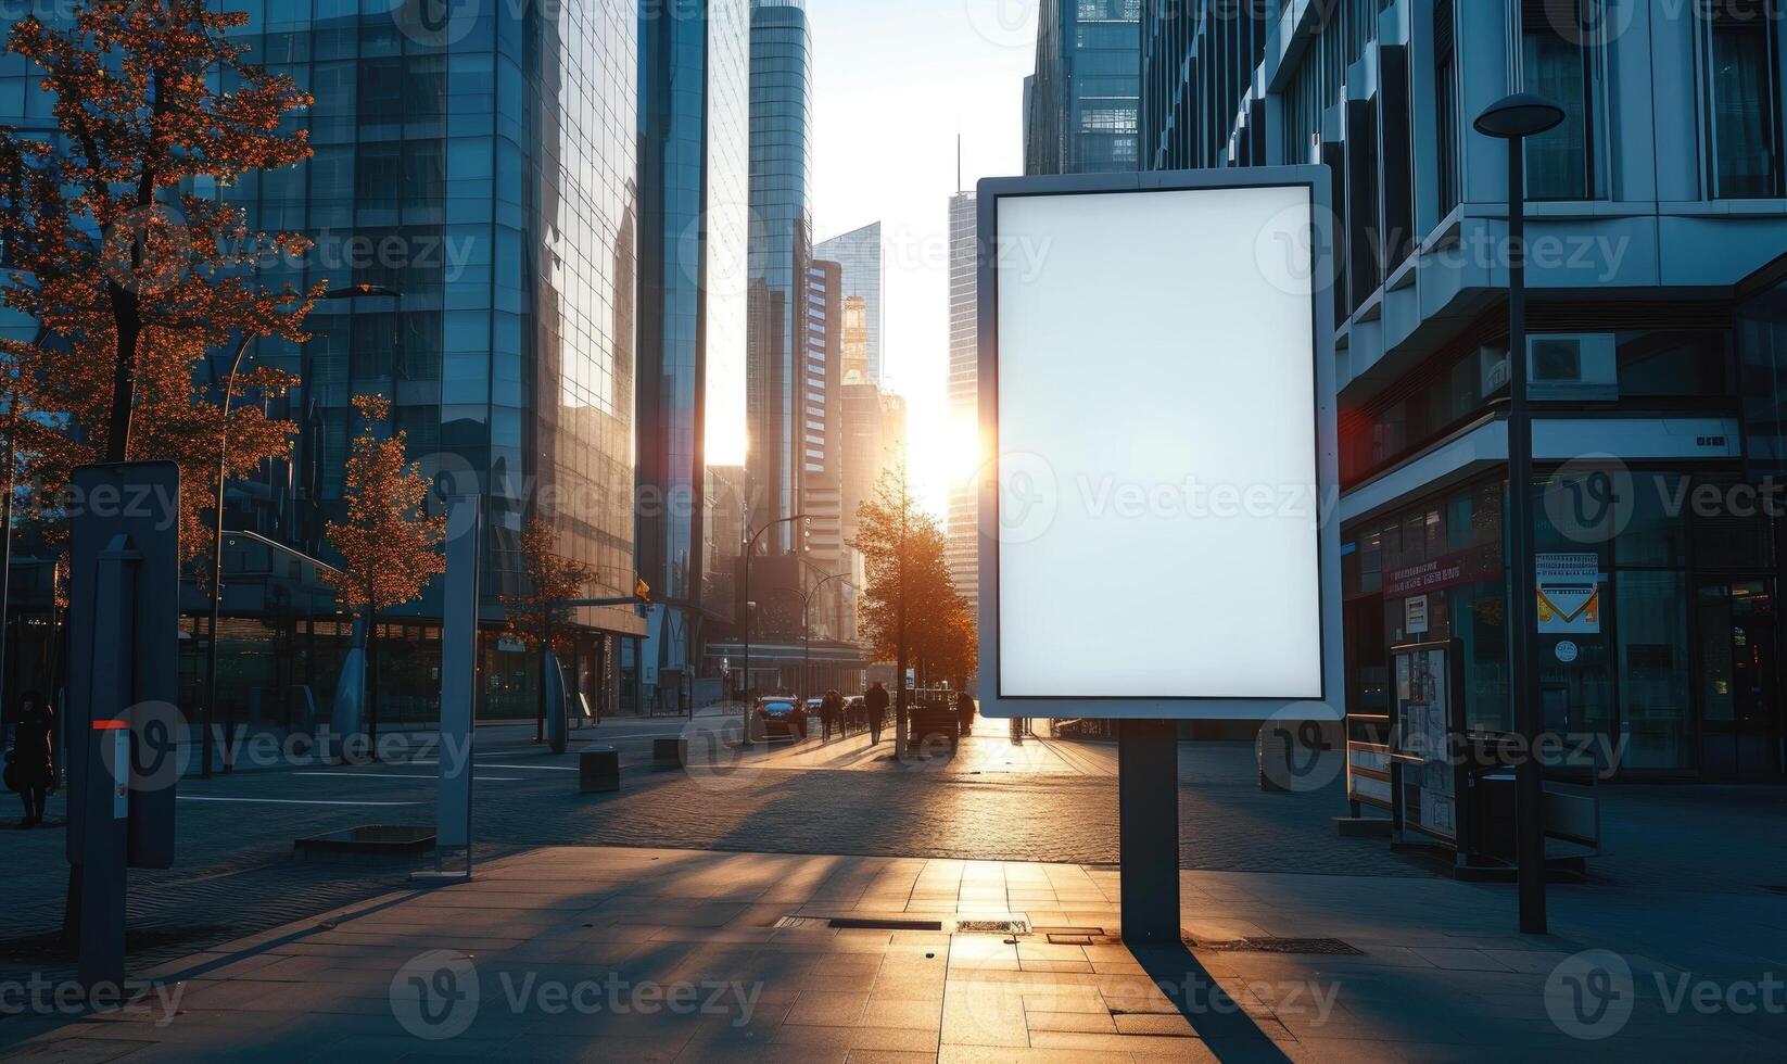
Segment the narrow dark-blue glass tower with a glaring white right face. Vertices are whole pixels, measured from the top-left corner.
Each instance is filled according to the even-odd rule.
[[[708,465],[745,460],[749,0],[640,9],[638,570],[647,706],[695,699],[708,621]]]

